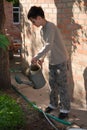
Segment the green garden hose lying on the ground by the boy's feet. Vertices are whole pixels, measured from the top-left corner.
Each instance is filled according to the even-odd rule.
[[[58,117],[56,117],[56,116],[54,116],[54,115],[51,115],[51,114],[48,114],[48,113],[43,112],[40,108],[38,108],[37,105],[35,105],[34,103],[32,103],[26,96],[24,96],[14,85],[12,85],[12,88],[13,88],[13,90],[15,90],[15,92],[17,92],[27,103],[29,103],[34,109],[38,110],[38,111],[41,112],[41,113],[44,113],[48,118],[54,119],[55,121],[60,122],[60,123],[62,123],[62,124],[64,124],[64,125],[67,125],[67,126],[72,125],[71,122],[68,122],[68,121],[59,119]]]

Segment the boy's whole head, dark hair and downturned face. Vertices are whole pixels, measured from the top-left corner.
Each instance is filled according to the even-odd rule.
[[[45,19],[43,9],[37,6],[30,8],[27,17],[37,27],[43,25],[43,20]]]

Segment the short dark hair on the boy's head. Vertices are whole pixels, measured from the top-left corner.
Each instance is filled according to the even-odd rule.
[[[28,19],[30,18],[37,18],[37,16],[41,16],[42,18],[44,18],[44,11],[41,7],[37,7],[37,6],[32,6],[28,12]]]

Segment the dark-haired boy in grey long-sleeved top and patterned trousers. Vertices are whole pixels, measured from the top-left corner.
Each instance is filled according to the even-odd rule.
[[[50,103],[45,112],[50,113],[57,109],[59,95],[61,105],[58,117],[65,119],[70,111],[70,99],[67,91],[68,55],[60,31],[52,22],[45,19],[44,11],[41,7],[32,6],[27,17],[35,26],[42,26],[41,37],[44,45],[38,54],[32,58],[31,62],[36,64],[40,59],[40,62],[43,63],[43,57],[47,54],[49,59],[49,85],[51,92]]]

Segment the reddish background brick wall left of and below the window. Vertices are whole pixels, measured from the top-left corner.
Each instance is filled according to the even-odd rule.
[[[9,35],[11,41],[21,41],[21,27],[20,24],[13,23],[13,5],[11,2],[4,1],[5,10],[5,32]]]

